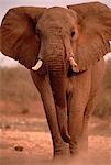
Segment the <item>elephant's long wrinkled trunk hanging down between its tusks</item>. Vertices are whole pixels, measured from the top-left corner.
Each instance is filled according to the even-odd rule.
[[[49,75],[51,87],[56,106],[56,114],[60,135],[66,143],[69,143],[67,127],[67,103],[66,103],[66,65],[63,53],[51,54],[45,57],[45,64]]]

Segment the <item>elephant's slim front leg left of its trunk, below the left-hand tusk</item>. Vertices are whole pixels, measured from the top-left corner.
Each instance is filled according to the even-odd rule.
[[[63,155],[63,139],[59,133],[56,108],[52,94],[52,88],[48,81],[48,77],[42,77],[36,74],[36,72],[31,72],[31,76],[38,91],[41,92],[41,98],[44,105],[44,110],[46,119],[48,122],[49,131],[52,134],[54,157],[60,157]]]

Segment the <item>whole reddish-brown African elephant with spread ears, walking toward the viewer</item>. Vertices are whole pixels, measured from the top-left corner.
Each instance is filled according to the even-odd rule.
[[[19,7],[1,23],[1,52],[31,70],[52,134],[54,156],[87,148],[88,121],[110,52],[111,9],[100,2],[66,8]]]

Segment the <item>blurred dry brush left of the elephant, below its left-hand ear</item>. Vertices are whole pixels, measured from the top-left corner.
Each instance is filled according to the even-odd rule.
[[[22,67],[0,68],[0,99],[11,99],[18,102],[24,99],[35,100],[38,97],[30,72]]]

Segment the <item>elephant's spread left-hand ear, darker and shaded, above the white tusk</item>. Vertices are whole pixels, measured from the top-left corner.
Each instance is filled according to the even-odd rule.
[[[45,8],[19,7],[10,9],[4,15],[1,28],[0,51],[31,68],[36,64],[40,38],[35,25]]]

